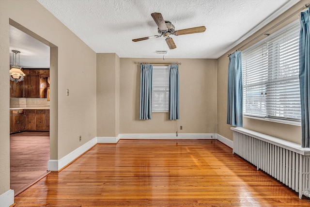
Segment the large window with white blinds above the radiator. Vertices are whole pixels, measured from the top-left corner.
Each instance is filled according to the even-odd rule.
[[[243,115],[300,122],[298,44],[299,24],[243,52]]]

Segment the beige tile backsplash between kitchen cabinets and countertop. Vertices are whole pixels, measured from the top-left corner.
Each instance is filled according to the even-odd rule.
[[[10,98],[10,108],[49,107],[47,98]]]

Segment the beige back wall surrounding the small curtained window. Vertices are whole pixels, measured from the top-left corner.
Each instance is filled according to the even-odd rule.
[[[176,121],[168,113],[153,113],[152,120],[139,119],[140,65],[181,62],[179,133],[213,133],[217,124],[217,60],[139,59],[120,61],[120,133],[175,133]]]

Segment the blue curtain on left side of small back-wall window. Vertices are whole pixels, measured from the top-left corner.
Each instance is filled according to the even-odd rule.
[[[153,65],[141,64],[140,71],[140,119],[152,119],[152,71]]]

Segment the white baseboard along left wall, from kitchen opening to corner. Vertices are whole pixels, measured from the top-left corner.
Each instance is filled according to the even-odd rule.
[[[80,155],[85,153],[91,147],[93,147],[97,143],[97,138],[93,138],[92,140],[84,143],[77,149],[73,150],[69,154],[65,155],[61,159],[50,159],[47,162],[47,170],[48,171],[60,171],[67,164],[77,159]]]

